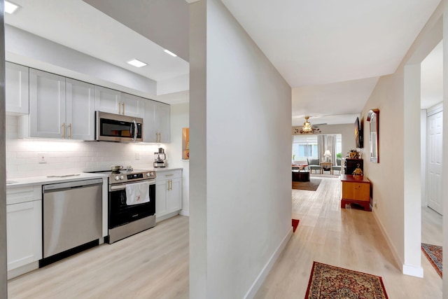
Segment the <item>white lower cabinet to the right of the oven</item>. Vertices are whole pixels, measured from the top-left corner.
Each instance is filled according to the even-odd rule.
[[[179,214],[182,209],[182,170],[158,172],[155,179],[157,221]]]

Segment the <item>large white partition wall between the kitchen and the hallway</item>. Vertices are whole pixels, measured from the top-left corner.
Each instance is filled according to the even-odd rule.
[[[291,234],[291,89],[221,1],[190,32],[190,298],[252,298]]]

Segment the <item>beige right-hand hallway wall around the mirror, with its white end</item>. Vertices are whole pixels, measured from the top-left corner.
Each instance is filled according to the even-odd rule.
[[[362,113],[365,118],[370,109],[379,109],[379,163],[364,163],[377,203],[372,212],[400,270],[414,276],[423,275],[420,63],[442,39],[440,18],[447,4],[441,1],[395,73],[379,79]],[[365,130],[365,148],[367,138]]]

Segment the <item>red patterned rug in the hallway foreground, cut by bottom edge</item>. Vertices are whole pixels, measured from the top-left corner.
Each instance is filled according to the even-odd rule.
[[[388,299],[379,276],[313,263],[305,299]]]

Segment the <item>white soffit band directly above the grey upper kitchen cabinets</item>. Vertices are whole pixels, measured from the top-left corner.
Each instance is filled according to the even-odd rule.
[[[155,99],[156,82],[59,43],[6,25],[6,60]]]

